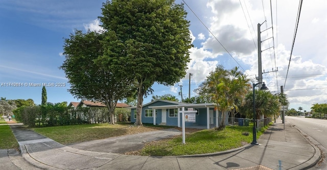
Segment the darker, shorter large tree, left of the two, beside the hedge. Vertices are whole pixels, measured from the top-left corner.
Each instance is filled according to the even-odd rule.
[[[104,54],[106,35],[76,30],[65,39],[65,61],[60,68],[71,84],[68,91],[79,99],[105,103],[110,124],[114,124],[115,106],[130,94],[132,82],[115,75],[110,65],[97,65],[95,62]]]

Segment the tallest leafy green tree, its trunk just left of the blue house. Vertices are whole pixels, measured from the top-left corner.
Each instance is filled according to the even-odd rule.
[[[173,85],[186,74],[192,47],[186,12],[174,0],[112,0],[102,14],[104,54],[97,62],[135,82],[135,125],[142,125],[143,97],[153,83]]]

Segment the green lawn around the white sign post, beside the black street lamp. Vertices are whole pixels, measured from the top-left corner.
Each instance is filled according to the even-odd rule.
[[[258,132],[257,137],[262,135],[265,129]],[[248,132],[249,135],[242,135],[242,132]],[[181,136],[152,141],[146,143],[145,147],[137,154],[143,156],[177,156],[214,153],[239,148],[251,141],[251,126],[227,126],[223,130],[209,129],[186,134],[185,144],[182,144]]]

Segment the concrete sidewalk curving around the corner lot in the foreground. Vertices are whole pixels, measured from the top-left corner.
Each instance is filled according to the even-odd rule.
[[[74,144],[62,145],[22,125],[10,126],[20,144],[21,156],[5,156],[1,150],[1,169],[309,169],[320,159],[319,149],[287,122],[284,130],[281,119],[258,139],[258,146],[181,157],[129,156],[106,149],[95,152],[90,151],[94,149],[92,142],[88,143],[89,148],[85,143],[73,148]],[[169,132],[165,132],[167,134]],[[109,148],[110,143],[119,143],[114,141],[96,142],[101,149],[103,144],[107,144],[103,148]],[[7,161],[3,163],[2,160]]]

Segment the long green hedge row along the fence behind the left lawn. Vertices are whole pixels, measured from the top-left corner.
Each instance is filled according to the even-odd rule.
[[[30,127],[63,126],[76,124],[109,123],[109,113],[106,108],[66,106],[26,106],[13,110],[16,120]],[[130,119],[130,110],[116,108],[115,115],[121,114],[123,121]]]

